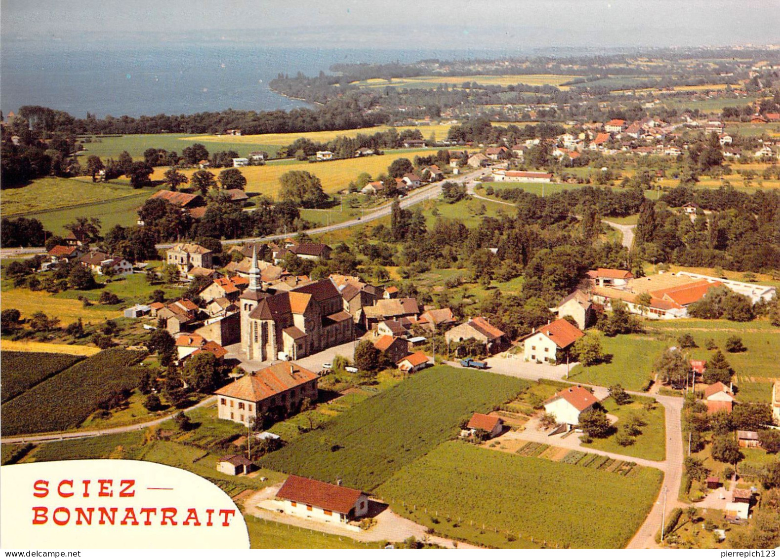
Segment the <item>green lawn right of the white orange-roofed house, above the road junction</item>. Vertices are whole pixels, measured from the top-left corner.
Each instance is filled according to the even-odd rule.
[[[656,358],[667,347],[664,341],[643,334],[616,337],[607,337],[596,331],[588,334],[601,337],[601,347],[605,354],[612,355],[612,362],[595,366],[575,366],[569,373],[569,380],[573,382],[592,383],[597,386],[619,383],[626,390],[642,390],[651,378]]]

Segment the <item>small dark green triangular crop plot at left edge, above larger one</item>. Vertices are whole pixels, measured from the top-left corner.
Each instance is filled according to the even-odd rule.
[[[82,358],[51,352],[2,351],[2,403],[73,366]]]

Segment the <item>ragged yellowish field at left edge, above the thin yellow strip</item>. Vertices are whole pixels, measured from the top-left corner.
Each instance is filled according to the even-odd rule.
[[[23,318],[29,318],[40,310],[49,317],[59,318],[63,326],[79,318],[85,323],[97,323],[122,316],[118,310],[101,309],[100,305],[84,308],[80,301],[73,298],[54,298],[48,292],[30,291],[28,288],[11,288],[3,291],[0,308],[3,310],[16,308],[22,313]]]

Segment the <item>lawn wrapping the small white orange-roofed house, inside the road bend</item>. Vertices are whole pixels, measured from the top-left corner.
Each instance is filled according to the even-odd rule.
[[[629,457],[639,457],[640,459],[651,459],[653,461],[664,461],[666,459],[666,426],[664,408],[656,404],[651,411],[646,411],[645,403],[652,401],[650,397],[633,396],[633,403],[619,405],[615,403],[612,397],[601,401],[604,408],[610,415],[618,417],[615,428],[620,428],[629,416],[635,415],[642,419],[644,426],[640,426],[642,433],[634,440],[630,446],[621,446],[615,441],[615,435],[608,438],[596,438],[593,443],[586,445],[585,449],[609,451],[614,454],[627,455]]]

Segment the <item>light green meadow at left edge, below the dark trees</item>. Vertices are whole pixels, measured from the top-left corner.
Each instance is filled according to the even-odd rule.
[[[34,214],[76,205],[139,197],[140,192],[127,184],[92,182],[89,177],[37,178],[26,186],[3,190],[3,214]],[[88,215],[85,213],[84,215]]]

